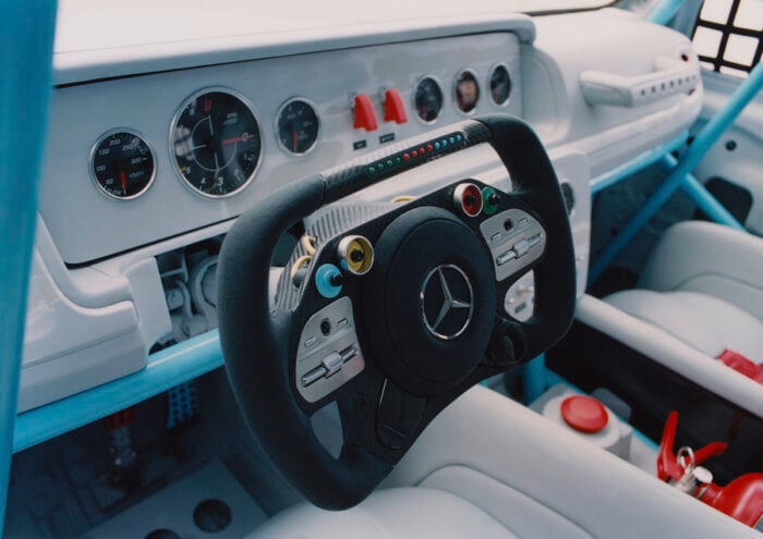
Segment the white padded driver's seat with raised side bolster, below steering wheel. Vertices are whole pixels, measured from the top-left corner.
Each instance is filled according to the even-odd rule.
[[[249,538],[758,537],[482,387],[429,425],[384,486],[344,512],[298,504]]]

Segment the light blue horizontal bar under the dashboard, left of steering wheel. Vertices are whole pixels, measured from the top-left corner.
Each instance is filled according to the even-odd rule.
[[[221,365],[217,330],[165,348],[152,354],[143,370],[19,415],[13,451],[22,451],[124,409]]]

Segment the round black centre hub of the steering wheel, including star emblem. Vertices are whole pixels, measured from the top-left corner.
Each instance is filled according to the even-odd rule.
[[[451,212],[420,207],[392,221],[364,286],[367,338],[400,388],[443,392],[484,356],[496,306],[493,262]]]

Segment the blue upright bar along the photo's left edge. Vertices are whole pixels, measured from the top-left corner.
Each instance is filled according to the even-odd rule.
[[[0,16],[0,537],[11,471],[37,184],[50,98],[56,2],[4,2]]]

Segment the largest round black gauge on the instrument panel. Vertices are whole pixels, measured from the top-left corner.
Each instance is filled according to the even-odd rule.
[[[262,155],[259,124],[244,98],[228,89],[194,94],[178,111],[170,150],[186,184],[208,197],[238,193]]]

